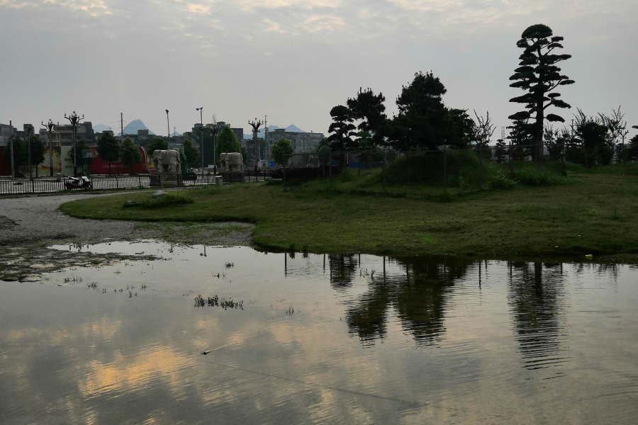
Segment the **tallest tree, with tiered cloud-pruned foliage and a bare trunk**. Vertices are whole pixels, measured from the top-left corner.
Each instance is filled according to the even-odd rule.
[[[561,69],[556,66],[559,62],[568,60],[571,55],[555,55],[556,49],[562,49],[560,44],[563,37],[555,37],[548,26],[537,24],[530,26],[521,35],[516,43],[517,47],[524,49],[520,55],[519,67],[510,77],[510,87],[527,91],[523,96],[510,99],[510,102],[524,103],[527,111],[520,111],[510,115],[510,120],[529,120],[532,113],[535,114],[535,122],[530,125],[533,141],[537,145],[536,159],[540,166],[543,154],[543,128],[545,120],[549,122],[561,122],[565,120],[559,115],[545,110],[550,106],[556,108],[571,108],[569,103],[561,101],[561,94],[554,92],[558,86],[573,84],[574,81],[566,75],[561,75]]]

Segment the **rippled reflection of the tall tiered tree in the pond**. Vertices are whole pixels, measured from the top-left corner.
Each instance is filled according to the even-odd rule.
[[[522,362],[542,369],[567,361],[564,329],[563,266],[508,263],[510,311]]]

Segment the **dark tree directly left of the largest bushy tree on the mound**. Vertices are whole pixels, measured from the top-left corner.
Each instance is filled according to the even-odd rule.
[[[372,135],[374,145],[385,145],[384,133],[387,127],[386,98],[383,94],[374,94],[372,89],[359,89],[355,98],[347,100],[353,120],[361,120],[359,130],[369,132]]]

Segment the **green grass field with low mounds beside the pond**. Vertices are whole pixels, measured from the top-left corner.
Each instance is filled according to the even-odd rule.
[[[492,175],[506,172],[493,167]],[[569,166],[568,177],[554,173],[552,181],[540,182],[525,177],[534,173],[520,164],[515,177],[527,184],[480,192],[464,191],[461,184],[449,188],[448,197],[436,185],[413,181],[388,186],[383,196],[380,172],[345,174],[285,192],[276,182],[196,188],[177,194],[194,203],[166,208],[123,208],[126,200],[151,196],[140,192],[77,200],[60,209],[97,219],[252,222],[254,242],[264,249],[527,260],[594,254],[603,261],[638,262],[638,164],[593,171]],[[549,186],[530,186],[535,184]]]

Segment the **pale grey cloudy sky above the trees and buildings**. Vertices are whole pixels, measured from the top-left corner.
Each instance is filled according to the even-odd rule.
[[[123,113],[166,134],[166,109],[184,132],[203,106],[205,123],[214,113],[245,132],[267,115],[327,133],[360,87],[391,115],[402,86],[432,71],[447,106],[489,111],[500,129],[522,94],[508,80],[515,43],[544,23],[573,56],[561,115],[622,106],[638,125],[637,15],[636,0],[0,0],[0,123],[77,111],[119,129]]]

